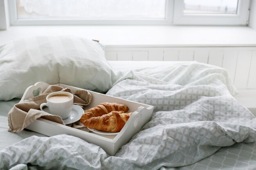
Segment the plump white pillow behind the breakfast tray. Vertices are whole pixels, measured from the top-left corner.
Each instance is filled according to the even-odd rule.
[[[0,46],[0,100],[22,97],[36,82],[108,91],[130,74],[115,73],[95,41],[74,36],[38,36]]]

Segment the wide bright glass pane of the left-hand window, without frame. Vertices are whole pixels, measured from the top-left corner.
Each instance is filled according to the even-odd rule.
[[[16,0],[18,18],[165,18],[166,0]]]

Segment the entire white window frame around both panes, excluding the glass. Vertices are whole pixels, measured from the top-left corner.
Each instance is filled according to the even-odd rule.
[[[237,14],[186,14],[184,0],[166,0],[164,19],[18,19],[16,0],[8,0],[11,25],[234,25],[246,26],[250,0],[238,0]]]

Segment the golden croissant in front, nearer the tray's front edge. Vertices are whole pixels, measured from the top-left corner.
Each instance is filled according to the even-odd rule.
[[[106,115],[92,117],[82,123],[91,129],[104,132],[120,132],[131,115],[132,113],[124,113],[124,111],[112,111]]]

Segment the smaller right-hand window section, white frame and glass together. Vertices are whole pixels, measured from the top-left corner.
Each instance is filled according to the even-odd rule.
[[[175,0],[173,24],[247,25],[249,0]]]

